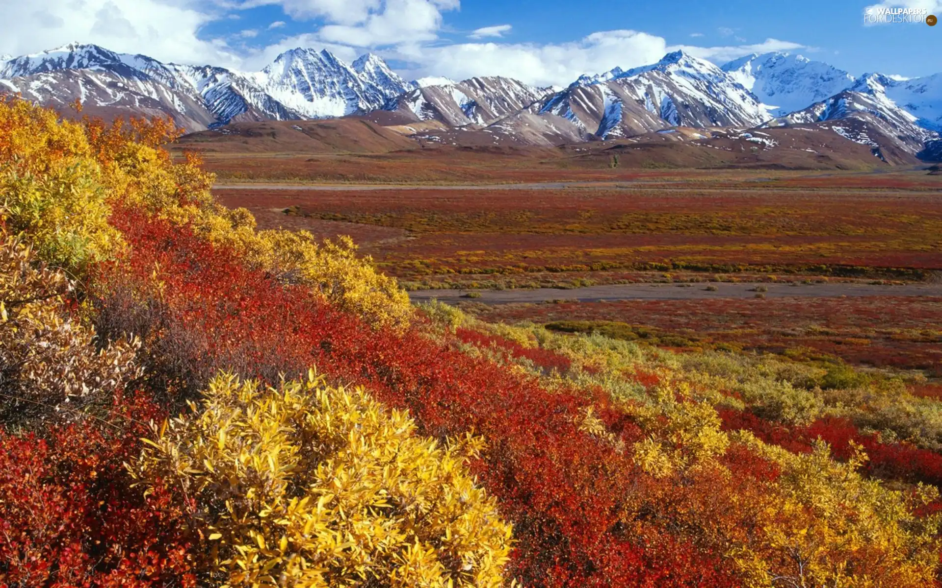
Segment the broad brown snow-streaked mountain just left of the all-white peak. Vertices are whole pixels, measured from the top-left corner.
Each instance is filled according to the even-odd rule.
[[[769,113],[748,89],[707,60],[676,51],[658,63],[581,76],[549,97],[540,114],[567,119],[599,138],[671,126],[753,127]]]

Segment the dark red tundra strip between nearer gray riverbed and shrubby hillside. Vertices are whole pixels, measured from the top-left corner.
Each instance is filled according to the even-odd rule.
[[[942,374],[942,298],[931,296],[623,300],[474,310],[487,321],[615,321],[706,344],[771,352],[804,347],[858,364]]]

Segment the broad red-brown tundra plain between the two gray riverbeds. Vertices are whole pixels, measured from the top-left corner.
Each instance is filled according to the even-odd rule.
[[[260,215],[296,206],[302,215],[347,223],[350,232],[364,225],[405,231],[411,238],[364,248],[404,278],[591,273],[651,264],[822,274],[859,271],[840,269],[848,267],[871,273],[942,269],[942,198],[919,191],[626,184],[565,190],[220,189],[217,195],[228,206]]]

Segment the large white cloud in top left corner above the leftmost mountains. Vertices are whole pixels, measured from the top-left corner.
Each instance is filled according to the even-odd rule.
[[[164,61],[237,64],[224,41],[198,39],[200,28],[219,13],[218,8],[196,2],[0,1],[0,54],[20,56],[80,41]]]

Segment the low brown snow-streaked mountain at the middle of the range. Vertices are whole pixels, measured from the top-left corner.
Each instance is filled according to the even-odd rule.
[[[415,120],[441,120],[450,126],[487,125],[538,102],[544,94],[512,78],[474,77],[463,82],[420,86],[386,104],[387,110]]]

